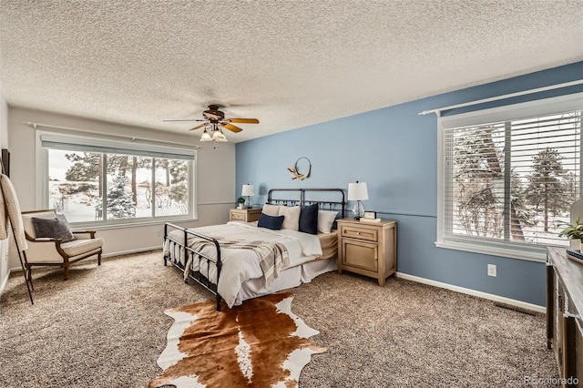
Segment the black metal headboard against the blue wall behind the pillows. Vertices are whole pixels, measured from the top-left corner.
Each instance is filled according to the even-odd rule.
[[[275,193],[285,192],[286,196],[292,197],[293,193],[299,194],[299,198],[290,199],[290,198],[275,198],[279,196],[275,196]],[[309,199],[306,197],[310,197],[310,195],[306,196],[308,193],[322,193],[322,192],[330,192],[334,193],[330,197],[335,197],[335,199]],[[346,200],[344,197],[344,190],[343,189],[270,189],[267,193],[267,202],[270,205],[284,205],[284,206],[305,206],[305,205],[313,205],[314,203],[318,204],[318,208],[320,209],[329,209],[329,210],[337,210],[338,206],[341,208],[340,218],[344,217],[345,210],[346,210]]]

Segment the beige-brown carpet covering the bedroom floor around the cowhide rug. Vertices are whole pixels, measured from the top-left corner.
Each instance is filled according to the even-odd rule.
[[[159,251],[37,270],[0,297],[0,386],[145,387],[173,320],[169,308],[210,299]],[[326,273],[294,289],[293,312],[320,331],[301,387],[524,386],[557,377],[545,317],[390,278]],[[546,386],[539,384],[537,386]],[[551,386],[551,385],[548,385]]]

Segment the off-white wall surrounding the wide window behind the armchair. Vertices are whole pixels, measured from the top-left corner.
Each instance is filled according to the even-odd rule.
[[[10,178],[23,211],[38,209],[36,198],[36,137],[35,129],[24,122],[36,122],[64,128],[95,131],[99,134],[125,135],[128,138],[148,138],[174,142],[182,146],[200,144],[197,155],[196,196],[198,220],[179,222],[185,227],[196,227],[225,223],[229,209],[234,206],[235,194],[235,145],[221,143],[220,148],[212,144],[199,143],[195,134],[162,132],[148,128],[130,127],[83,117],[70,117],[38,110],[18,107],[8,108],[8,134],[10,138]],[[63,129],[37,127],[38,130]],[[86,134],[87,135],[87,134]],[[162,244],[163,223],[148,226],[131,226],[97,230],[97,236],[105,240],[104,256],[139,250],[157,249]],[[20,268],[18,257],[10,252],[9,266]]]

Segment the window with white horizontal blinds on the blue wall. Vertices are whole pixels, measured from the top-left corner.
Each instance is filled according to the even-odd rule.
[[[544,260],[581,187],[581,95],[440,117],[437,246]]]

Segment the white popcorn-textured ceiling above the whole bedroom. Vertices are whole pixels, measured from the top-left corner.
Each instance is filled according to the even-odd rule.
[[[10,107],[187,133],[216,103],[243,141],[583,60],[583,0],[1,0],[0,34]]]

